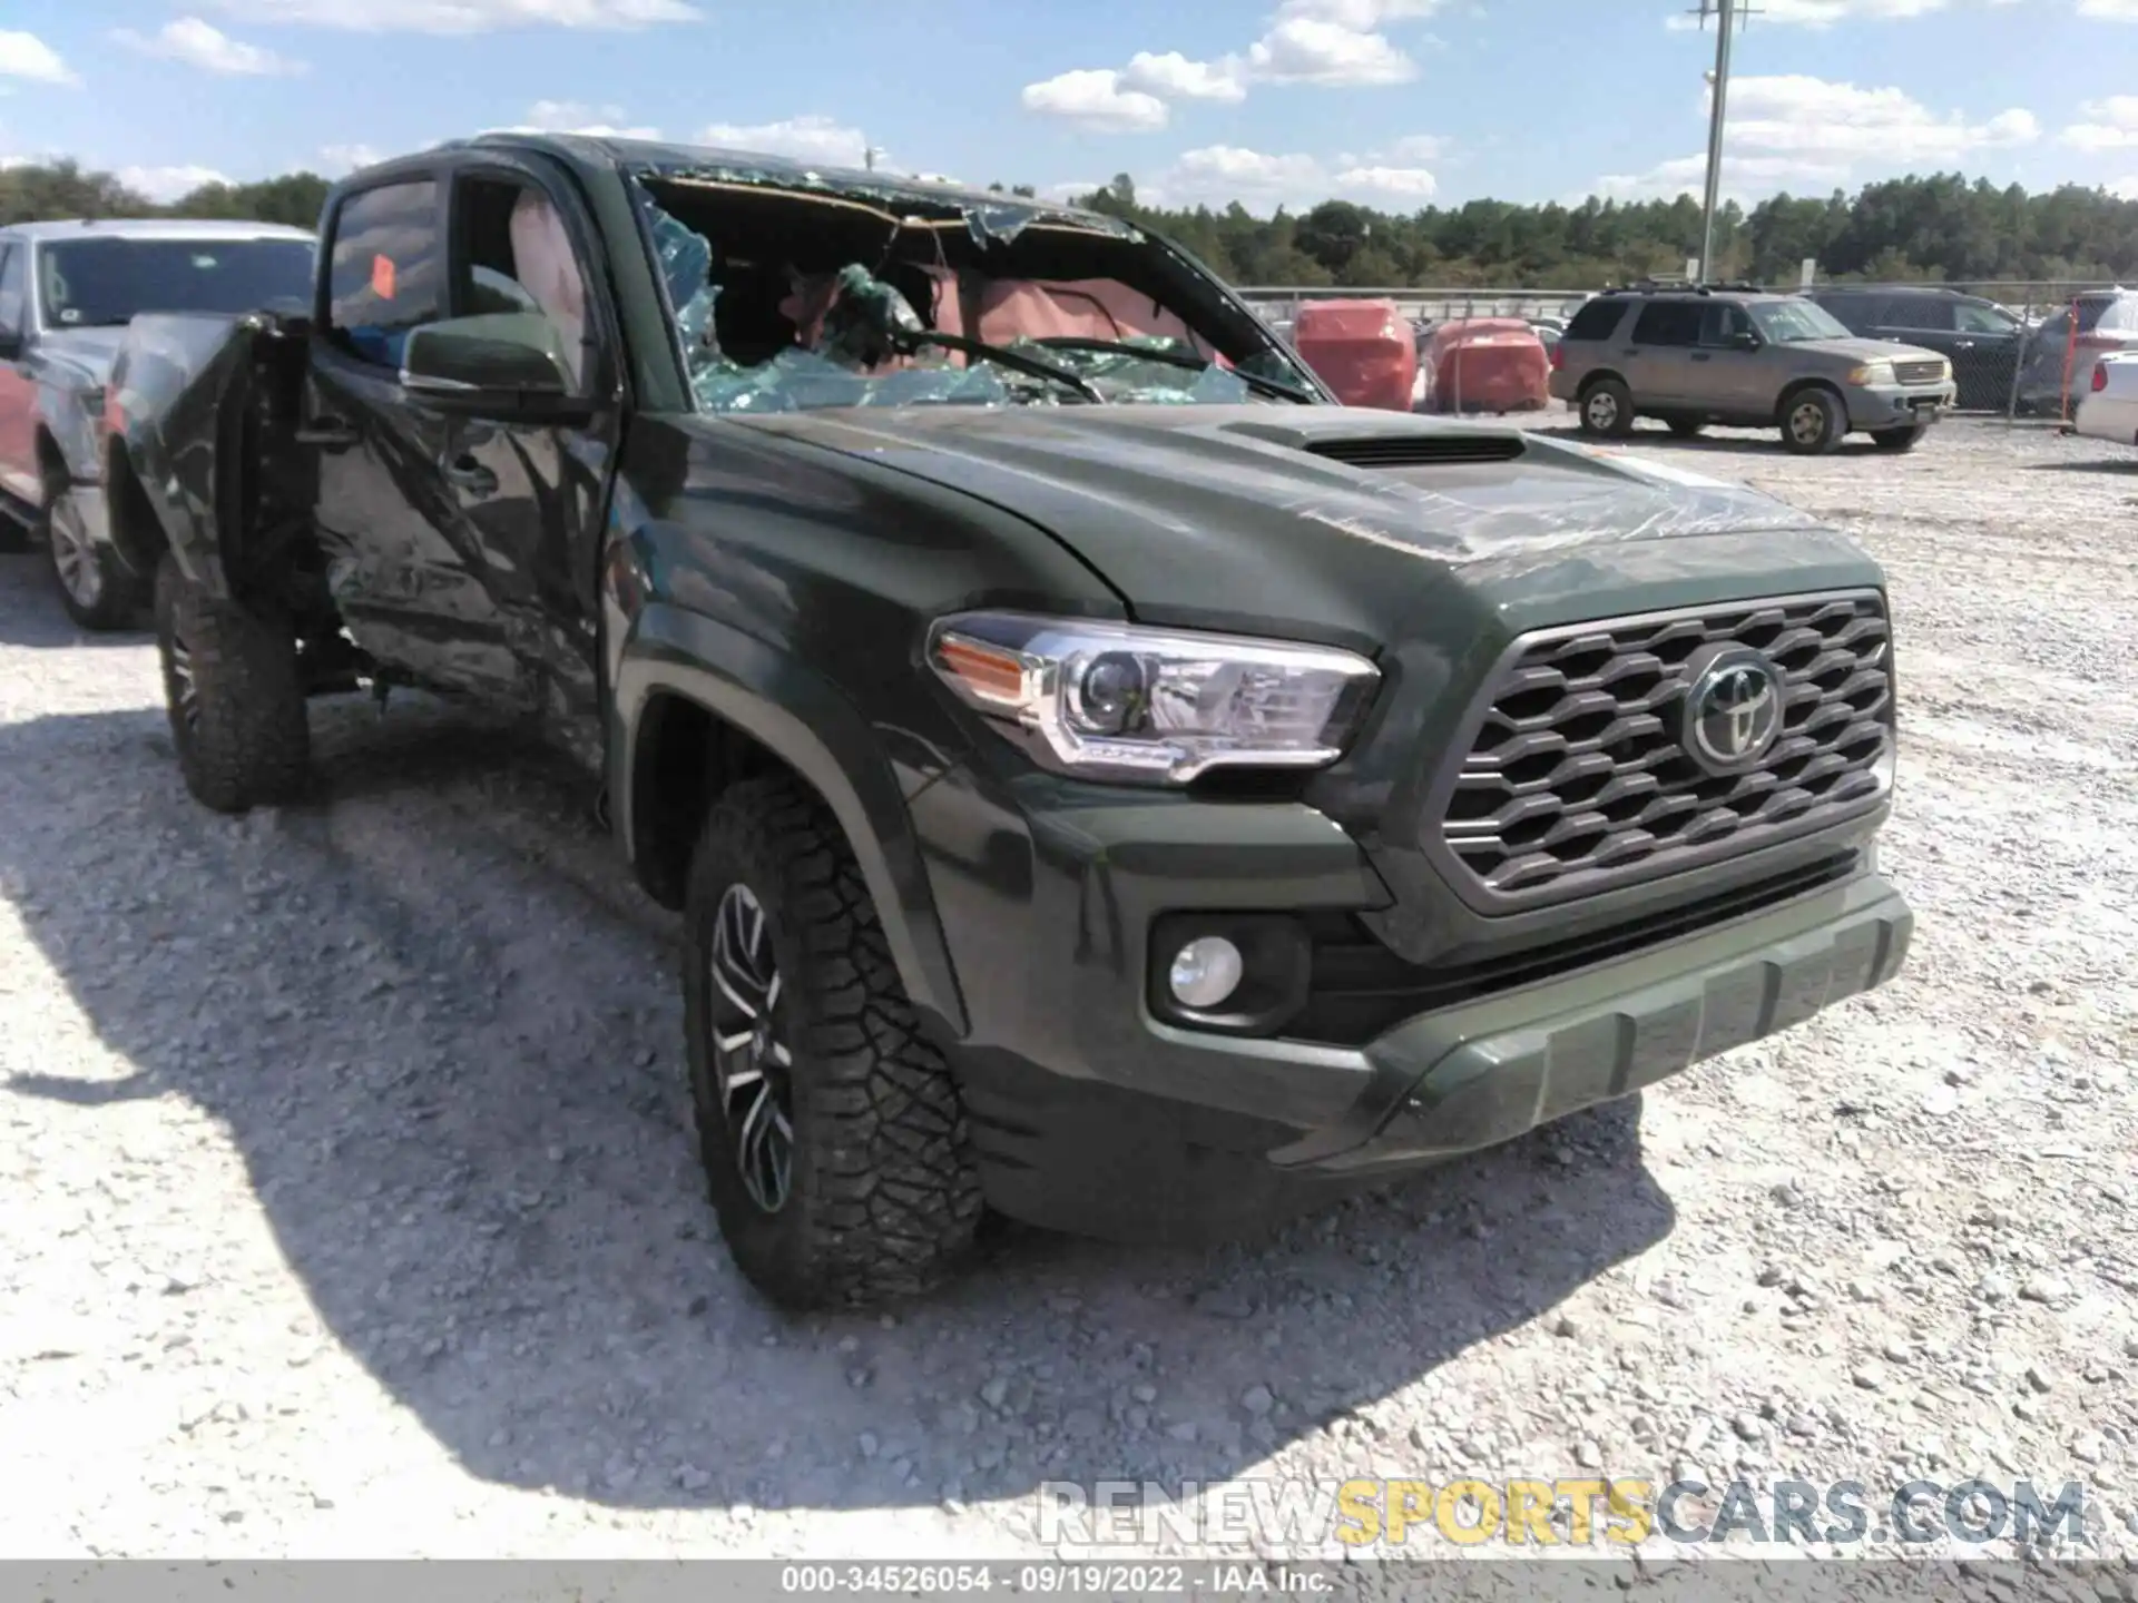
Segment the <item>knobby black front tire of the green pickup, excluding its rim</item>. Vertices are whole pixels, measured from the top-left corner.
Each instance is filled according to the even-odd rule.
[[[791,1052],[789,1188],[750,1195],[714,1041],[714,921],[729,887],[763,911]],[[787,1308],[909,1297],[973,1246],[983,1214],[964,1107],[892,964],[862,868],[825,804],[791,776],[744,780],[706,816],[684,893],[684,1028],[699,1161],[721,1235]]]

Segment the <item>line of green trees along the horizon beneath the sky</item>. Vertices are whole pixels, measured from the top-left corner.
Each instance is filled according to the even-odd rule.
[[[327,184],[319,173],[284,173],[207,184],[158,205],[77,162],[17,165],[0,169],[0,224],[197,216],[308,229]],[[1033,186],[1007,192],[1028,197]],[[1591,197],[1582,205],[1465,201],[1407,214],[1323,201],[1257,218],[1238,201],[1223,209],[1148,205],[1120,173],[1075,199],[1172,235],[1236,284],[1597,289],[1683,271],[1700,248],[1700,205],[1689,194]],[[1751,209],[1730,203],[1717,218],[1717,276],[1796,282],[1804,256],[1828,278],[2117,282],[2138,278],[2138,201],[2078,184],[2029,194],[2018,184],[1937,173],[1826,199],[1777,194]]]

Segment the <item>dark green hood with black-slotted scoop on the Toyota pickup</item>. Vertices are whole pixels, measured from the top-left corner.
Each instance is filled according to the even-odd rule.
[[[1877,581],[1849,541],[1755,489],[1514,427],[1345,406],[847,408],[716,427],[738,423],[1026,517],[1131,616],[1176,626],[1377,648],[1447,592],[1531,628]]]

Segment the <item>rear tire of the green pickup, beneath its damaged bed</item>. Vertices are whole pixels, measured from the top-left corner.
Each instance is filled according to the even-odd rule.
[[[197,802],[246,812],[304,795],[312,731],[286,620],[207,594],[165,556],[156,656],[177,765]],[[182,663],[192,675],[190,707]]]

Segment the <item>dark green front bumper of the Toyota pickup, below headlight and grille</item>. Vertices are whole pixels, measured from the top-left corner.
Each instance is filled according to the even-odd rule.
[[[956,1043],[990,1201],[1052,1229],[1210,1240],[1507,1141],[1890,979],[1911,915],[1869,866],[1623,958],[1437,1007],[1364,1045],[1152,1015],[1165,913],[1362,911],[1364,853],[1300,804],[913,797],[973,1032]]]

